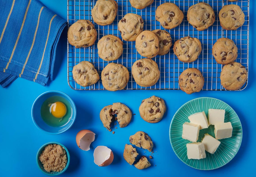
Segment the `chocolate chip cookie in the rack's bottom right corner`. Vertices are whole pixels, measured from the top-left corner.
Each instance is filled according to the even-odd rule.
[[[221,85],[227,90],[240,89],[248,78],[246,68],[237,62],[223,66],[220,73]]]

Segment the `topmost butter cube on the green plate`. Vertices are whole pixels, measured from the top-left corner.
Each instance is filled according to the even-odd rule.
[[[224,123],[224,118],[225,118],[225,110],[209,109],[208,111],[209,125]]]

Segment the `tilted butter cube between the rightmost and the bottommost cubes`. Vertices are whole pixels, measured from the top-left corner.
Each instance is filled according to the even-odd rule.
[[[201,142],[204,144],[204,149],[211,154],[214,154],[220,145],[220,141],[216,140],[208,133],[204,135],[204,138]]]

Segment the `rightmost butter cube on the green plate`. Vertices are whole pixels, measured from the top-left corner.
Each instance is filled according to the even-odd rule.
[[[214,134],[216,139],[230,138],[232,136],[233,127],[231,125],[231,122],[218,123],[215,124],[214,127]]]

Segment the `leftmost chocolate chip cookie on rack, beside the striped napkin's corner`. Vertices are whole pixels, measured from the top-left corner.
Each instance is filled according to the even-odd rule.
[[[75,48],[89,47],[96,38],[97,31],[89,20],[78,20],[68,29],[68,42]]]

